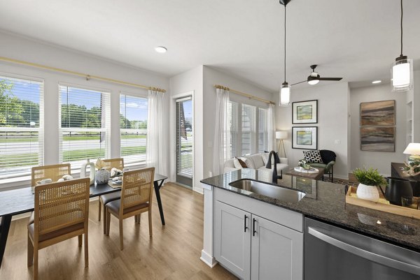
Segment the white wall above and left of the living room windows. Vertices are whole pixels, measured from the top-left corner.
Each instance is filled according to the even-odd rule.
[[[213,162],[214,119],[216,113],[216,89],[214,84],[221,84],[237,91],[242,91],[265,100],[274,101],[273,94],[255,87],[230,75],[216,71],[210,66],[204,66],[204,178],[209,177]],[[230,99],[251,105],[268,107],[267,103],[230,93]]]

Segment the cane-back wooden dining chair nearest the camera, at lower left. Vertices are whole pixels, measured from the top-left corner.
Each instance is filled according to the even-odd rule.
[[[85,239],[85,267],[89,265],[87,223],[90,179],[74,179],[35,187],[35,218],[28,225],[28,267],[38,279],[38,251],[71,237]]]

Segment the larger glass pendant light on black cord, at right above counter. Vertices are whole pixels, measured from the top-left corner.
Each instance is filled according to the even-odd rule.
[[[402,0],[401,0],[401,52],[391,66],[392,91],[407,91],[413,88],[413,60],[402,54]]]

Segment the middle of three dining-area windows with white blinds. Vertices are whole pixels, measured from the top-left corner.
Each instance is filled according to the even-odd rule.
[[[59,86],[59,161],[80,168],[86,160],[110,156],[110,95]]]

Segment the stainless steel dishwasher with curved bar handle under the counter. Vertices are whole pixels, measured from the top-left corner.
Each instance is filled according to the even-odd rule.
[[[304,219],[305,280],[420,279],[420,253]]]

